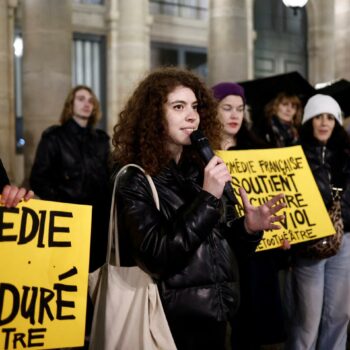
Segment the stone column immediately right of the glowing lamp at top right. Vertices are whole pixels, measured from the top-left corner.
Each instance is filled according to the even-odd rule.
[[[334,0],[310,0],[308,14],[309,81],[335,79],[336,42]]]

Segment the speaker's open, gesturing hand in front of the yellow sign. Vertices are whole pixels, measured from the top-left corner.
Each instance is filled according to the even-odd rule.
[[[263,230],[277,230],[281,228],[275,222],[284,219],[284,215],[275,215],[279,210],[286,207],[286,204],[280,202],[284,198],[283,194],[274,196],[266,203],[255,207],[250,204],[246,191],[239,189],[244,209],[244,226],[249,233]]]

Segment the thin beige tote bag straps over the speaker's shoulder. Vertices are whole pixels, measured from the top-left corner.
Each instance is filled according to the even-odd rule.
[[[154,199],[154,202],[156,204],[157,209],[160,209],[159,205],[159,197],[158,197],[158,192],[156,189],[156,186],[154,185],[154,182],[152,180],[152,177],[148,174],[146,174],[145,170],[140,167],[137,164],[127,164],[124,165],[117,173],[115,180],[114,180],[114,185],[113,185],[113,192],[112,192],[112,201],[111,201],[111,209],[109,213],[109,227],[108,227],[108,245],[107,245],[107,256],[106,256],[106,263],[111,262],[111,257],[112,257],[112,249],[113,249],[113,241],[114,241],[114,258],[115,258],[115,266],[120,266],[120,253],[119,253],[119,235],[118,235],[118,224],[117,224],[117,203],[115,202],[115,192],[118,184],[118,180],[122,174],[125,173],[126,169],[129,167],[134,167],[138,168],[139,170],[142,171],[142,173],[145,175],[151,190],[152,190],[152,196]]]

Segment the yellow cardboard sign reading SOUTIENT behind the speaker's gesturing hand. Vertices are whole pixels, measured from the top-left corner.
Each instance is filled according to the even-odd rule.
[[[264,231],[257,251],[280,247],[283,239],[295,244],[335,233],[301,146],[216,153],[232,176],[240,216],[244,213],[239,187],[246,190],[254,206],[285,194],[281,229]]]

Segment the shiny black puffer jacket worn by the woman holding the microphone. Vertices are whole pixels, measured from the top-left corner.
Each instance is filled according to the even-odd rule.
[[[232,248],[254,251],[261,238],[245,232],[243,219],[226,222],[201,173],[182,161],[154,176],[160,212],[138,169],[128,168],[117,187],[122,265],[136,260],[158,280],[169,320],[229,319],[239,303]]]

